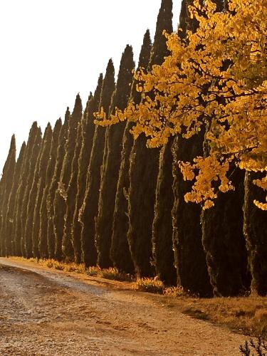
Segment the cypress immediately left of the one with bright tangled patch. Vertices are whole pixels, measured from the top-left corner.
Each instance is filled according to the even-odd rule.
[[[62,235],[63,225],[61,219],[61,211],[58,210],[58,204],[61,203],[60,197],[57,196],[58,182],[61,177],[63,159],[65,157],[66,140],[68,137],[68,121],[70,119],[69,108],[66,110],[64,123],[61,127],[61,132],[58,138],[58,149],[56,151],[56,166],[53,172],[53,178],[46,199],[48,210],[48,254],[49,258],[56,258],[61,261],[62,256]]]

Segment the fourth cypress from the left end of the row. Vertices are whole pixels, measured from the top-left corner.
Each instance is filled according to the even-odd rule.
[[[27,257],[37,257],[39,258],[38,252],[38,231],[36,234],[35,224],[36,224],[36,204],[38,204],[39,211],[39,188],[43,187],[43,175],[46,174],[46,167],[48,162],[43,162],[43,151],[46,147],[46,141],[51,140],[51,125],[48,123],[46,130],[41,141],[40,149],[38,150],[38,158],[36,160],[36,165],[34,168],[33,181],[31,184],[31,190],[28,196],[27,204],[27,219],[25,228],[25,238],[26,238],[26,253]],[[47,149],[46,149],[47,151]],[[41,186],[41,187],[40,187]],[[37,207],[37,209],[38,209]],[[39,213],[38,211],[38,213]],[[38,224],[38,223],[37,223]]]

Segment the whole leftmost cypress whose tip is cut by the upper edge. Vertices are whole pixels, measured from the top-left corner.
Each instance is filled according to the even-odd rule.
[[[169,53],[166,38],[162,34],[164,30],[172,32],[172,0],[162,0],[159,9],[150,68],[155,64],[162,64],[164,57]],[[134,142],[130,155],[130,225],[127,237],[135,271],[140,276],[152,276],[155,273],[150,261],[152,260],[152,224],[159,169],[159,149],[148,149],[146,143],[145,135],[140,135]]]

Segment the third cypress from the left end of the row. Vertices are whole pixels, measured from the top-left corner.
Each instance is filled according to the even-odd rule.
[[[19,188],[16,192],[15,201],[15,214],[14,214],[14,241],[16,246],[16,256],[26,256],[24,241],[23,241],[23,230],[25,227],[24,215],[27,209],[27,205],[23,206],[23,197],[28,189],[28,179],[31,172],[31,157],[33,155],[33,148],[35,147],[36,137],[38,141],[41,141],[41,130],[37,126],[37,122],[33,122],[31,130],[28,135],[28,142],[25,149],[25,157],[23,159],[23,164],[21,167],[21,176],[19,178]],[[23,210],[25,209],[25,210]]]

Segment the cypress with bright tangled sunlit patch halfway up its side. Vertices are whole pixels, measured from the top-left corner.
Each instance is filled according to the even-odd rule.
[[[68,127],[68,141],[66,142],[66,153],[63,160],[61,171],[61,209],[64,212],[64,230],[62,239],[62,251],[66,261],[74,260],[73,244],[70,239],[71,222],[73,220],[75,193],[77,189],[77,172],[78,170],[78,155],[75,157],[75,146],[78,142],[78,127],[83,115],[83,105],[80,100],[80,95],[76,96],[73,112],[70,117]],[[81,140],[80,140],[81,141]],[[78,142],[78,152],[80,152],[80,142]],[[73,159],[75,158],[75,161]],[[70,184],[71,174],[73,172],[73,183]],[[76,177],[76,182],[75,182]],[[70,185],[69,185],[70,184]],[[63,194],[62,194],[63,193]]]

